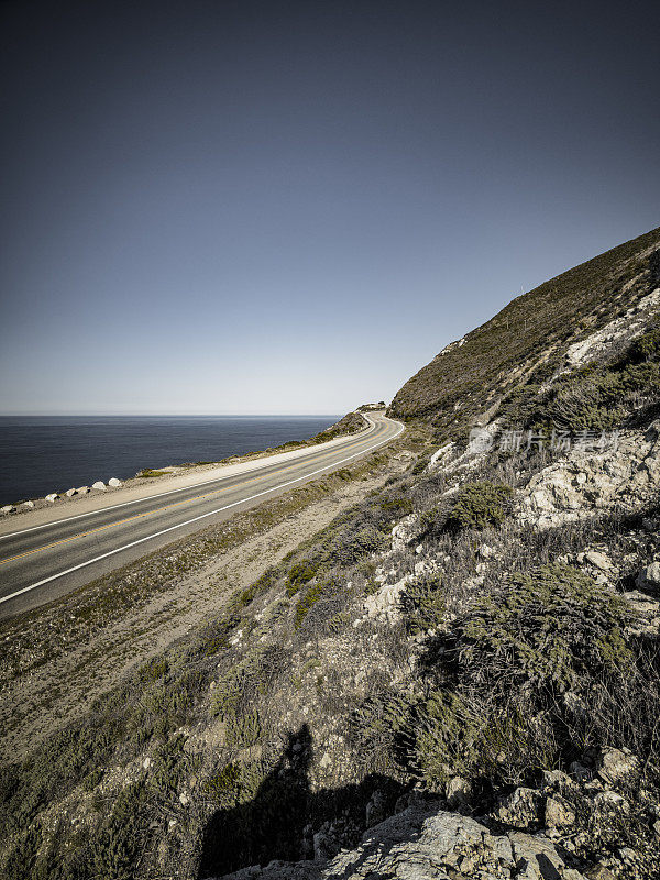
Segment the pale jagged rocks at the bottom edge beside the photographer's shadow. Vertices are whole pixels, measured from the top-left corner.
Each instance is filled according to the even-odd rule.
[[[642,870],[634,849],[592,865],[585,873],[573,867],[581,842],[574,834],[575,811],[587,801],[604,827],[616,824],[616,813],[629,811],[626,785],[637,759],[605,749],[586,768],[575,763],[571,773],[543,773],[539,789],[518,788],[486,815],[470,816],[470,787],[454,778],[449,801],[411,792],[393,816],[363,835],[360,846],[323,858],[332,827],[314,837],[317,860],[273,861],[224,875],[221,880],[613,880],[622,869]],[[597,769],[596,769],[597,768]],[[367,824],[377,815],[377,798],[367,805]],[[463,813],[455,812],[457,806]],[[660,804],[647,805],[660,848]],[[585,837],[587,831],[580,832]],[[660,868],[660,861],[659,861]]]

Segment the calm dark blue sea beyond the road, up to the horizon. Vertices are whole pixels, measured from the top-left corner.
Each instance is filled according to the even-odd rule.
[[[0,504],[306,440],[338,416],[3,416]]]

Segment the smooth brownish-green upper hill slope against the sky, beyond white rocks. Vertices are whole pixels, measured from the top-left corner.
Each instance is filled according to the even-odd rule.
[[[413,376],[389,413],[454,431],[457,420],[486,413],[541,354],[551,360],[657,286],[659,244],[660,228],[517,297]]]

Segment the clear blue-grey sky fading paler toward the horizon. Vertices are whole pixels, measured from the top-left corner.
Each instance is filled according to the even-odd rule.
[[[0,411],[341,413],[660,224],[651,2],[3,2]]]

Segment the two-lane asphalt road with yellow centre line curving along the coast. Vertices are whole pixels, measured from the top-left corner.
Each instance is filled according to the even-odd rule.
[[[381,414],[372,427],[345,441],[312,448],[302,457],[127,504],[118,494],[109,509],[72,515],[0,536],[0,617],[62,596],[113,569],[125,565],[178,538],[227,519],[309,480],[322,476],[393,440],[400,422]],[[113,508],[113,509],[110,509]],[[22,517],[16,518],[16,526]],[[29,520],[24,520],[25,526]]]

